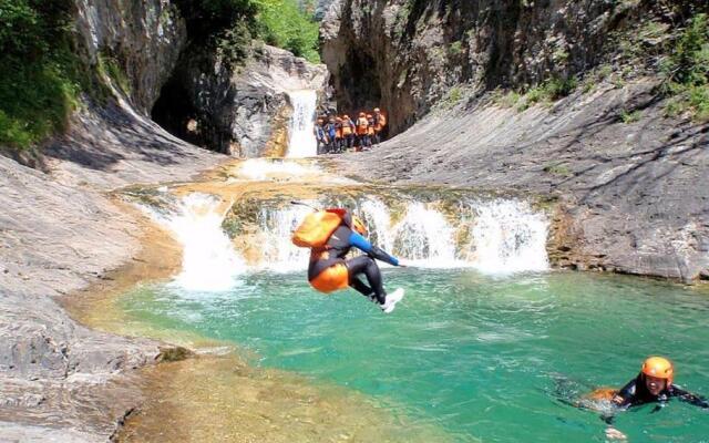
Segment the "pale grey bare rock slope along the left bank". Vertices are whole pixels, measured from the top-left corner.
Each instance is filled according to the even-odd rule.
[[[141,403],[133,370],[164,344],[92,331],[58,300],[140,248],[138,222],[105,192],[223,159],[120,105],[78,114],[47,173],[0,156],[0,441],[105,442]]]

